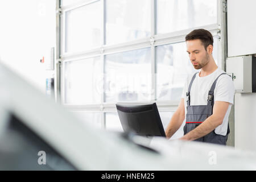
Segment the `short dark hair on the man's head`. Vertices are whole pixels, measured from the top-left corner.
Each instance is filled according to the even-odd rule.
[[[205,50],[207,50],[207,47],[209,45],[213,46],[213,37],[212,34],[208,30],[204,30],[203,28],[201,29],[196,29],[190,32],[186,37],[185,40],[195,40],[195,39],[200,39],[201,42],[204,45]]]

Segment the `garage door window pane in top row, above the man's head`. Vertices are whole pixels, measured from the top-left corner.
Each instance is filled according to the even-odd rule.
[[[217,0],[157,1],[158,34],[213,23],[217,23]]]

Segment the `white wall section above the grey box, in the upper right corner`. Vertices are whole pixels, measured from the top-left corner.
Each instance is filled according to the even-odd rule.
[[[256,53],[256,1],[228,0],[228,56]]]

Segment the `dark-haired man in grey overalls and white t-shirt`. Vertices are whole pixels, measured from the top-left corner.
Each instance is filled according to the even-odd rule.
[[[180,104],[168,123],[167,138],[172,137],[185,119],[181,140],[226,144],[228,117],[234,100],[232,78],[216,65],[213,37],[204,29],[193,30],[186,37],[187,52],[199,72],[185,82]]]

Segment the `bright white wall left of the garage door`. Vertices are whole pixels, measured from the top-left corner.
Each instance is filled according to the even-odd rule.
[[[55,0],[0,1],[0,59],[42,92],[45,65],[56,42]]]

